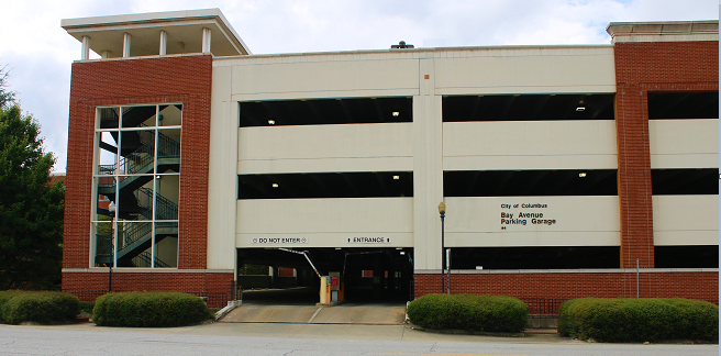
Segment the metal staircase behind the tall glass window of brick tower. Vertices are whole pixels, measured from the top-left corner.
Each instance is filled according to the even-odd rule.
[[[151,110],[152,108],[152,110]],[[107,120],[101,120],[103,129],[118,127],[118,119],[112,114]],[[123,112],[124,127],[146,126],[143,124],[152,115],[155,115],[154,107],[131,108]],[[115,115],[117,116],[117,115]],[[151,254],[147,252],[153,243],[153,190],[143,187],[151,181],[156,174],[168,170],[179,171],[180,143],[179,136],[157,134],[157,151],[155,147],[155,135],[151,131],[123,131],[123,142],[120,149],[121,159],[117,165],[101,165],[99,175],[119,174],[118,197],[115,197],[115,180],[102,178],[98,185],[98,194],[107,196],[111,201],[117,201],[119,210],[117,216],[122,219],[117,224],[118,246],[117,260],[119,267],[151,267]],[[118,142],[118,133],[113,133]],[[117,147],[103,147],[118,152]],[[126,149],[132,147],[133,151]],[[157,152],[157,159],[155,154]],[[157,162],[156,165],[154,164]],[[110,177],[109,177],[110,178]],[[98,209],[99,214],[109,215],[108,210]],[[177,220],[178,204],[159,193],[155,194],[155,220]],[[155,223],[155,243],[159,243],[167,236],[177,236],[178,223]],[[109,264],[111,262],[111,235],[109,231],[98,232],[97,235],[97,264]],[[165,262],[155,258],[156,267],[169,267]]]

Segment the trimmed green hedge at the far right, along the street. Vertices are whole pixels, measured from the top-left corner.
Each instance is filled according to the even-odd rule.
[[[599,342],[719,338],[719,307],[683,298],[580,298],[561,305],[558,333]]]

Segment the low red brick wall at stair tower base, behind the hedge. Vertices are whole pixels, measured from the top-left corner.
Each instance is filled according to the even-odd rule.
[[[106,269],[107,271],[107,269]],[[199,297],[210,297],[208,307],[225,307],[231,297],[233,274],[219,272],[113,272],[112,290],[118,291],[181,291]],[[107,272],[64,272],[64,290],[98,291],[81,298],[92,301],[96,297],[108,291]],[[78,297],[84,297],[78,293]],[[222,294],[222,296],[221,296]]]

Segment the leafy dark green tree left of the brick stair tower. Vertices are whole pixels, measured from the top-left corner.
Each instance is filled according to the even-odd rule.
[[[40,124],[0,107],[0,290],[59,287],[65,188],[51,183],[54,164]]]

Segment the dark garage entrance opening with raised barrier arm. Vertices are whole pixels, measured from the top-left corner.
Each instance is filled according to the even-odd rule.
[[[321,276],[335,280],[335,297],[354,303],[412,300],[413,248],[293,248],[306,251]],[[298,304],[319,301],[320,278],[306,256],[278,248],[239,248],[243,300]],[[331,276],[336,276],[333,279]]]

